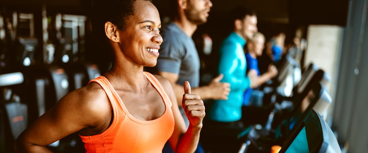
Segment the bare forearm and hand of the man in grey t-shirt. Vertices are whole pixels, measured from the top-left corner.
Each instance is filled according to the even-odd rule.
[[[159,71],[158,74],[167,80],[169,80],[170,84],[173,87],[177,103],[181,106],[181,99],[183,98],[184,90],[183,85],[179,85],[176,83],[178,80],[178,74]],[[212,81],[202,87],[192,88],[192,93],[199,95],[201,99],[227,99],[227,95],[230,92],[230,84],[229,83],[221,83],[222,75],[220,74],[216,78],[212,79]]]

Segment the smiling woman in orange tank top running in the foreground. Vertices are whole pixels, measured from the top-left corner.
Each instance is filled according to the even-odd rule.
[[[159,12],[148,0],[96,0],[93,31],[113,51],[112,68],[64,96],[17,139],[21,152],[50,152],[45,146],[78,132],[86,152],[194,152],[203,101],[184,83],[185,129],[174,91],[163,77],[143,72],[155,66],[162,37]],[[105,52],[101,52],[105,54]]]

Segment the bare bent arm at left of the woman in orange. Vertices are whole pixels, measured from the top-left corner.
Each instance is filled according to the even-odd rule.
[[[96,99],[103,100],[97,95],[79,89],[61,98],[17,138],[18,152],[51,152],[47,145],[99,122],[104,107],[93,105]]]

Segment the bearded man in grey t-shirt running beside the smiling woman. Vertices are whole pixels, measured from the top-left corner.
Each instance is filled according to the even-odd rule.
[[[160,45],[160,55],[155,69],[160,76],[170,81],[179,107],[184,94],[184,81],[189,81],[191,92],[199,95],[201,99],[227,99],[230,84],[220,83],[222,74],[210,81],[208,85],[198,87],[200,63],[191,37],[197,25],[207,21],[212,3],[210,0],[179,2],[177,1],[173,6],[176,9],[173,22],[162,31],[163,42]],[[186,118],[183,109],[181,112]],[[188,127],[188,120],[185,120],[185,124]]]

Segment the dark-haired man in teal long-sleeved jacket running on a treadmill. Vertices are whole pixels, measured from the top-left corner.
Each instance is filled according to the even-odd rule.
[[[218,69],[218,73],[223,74],[221,82],[230,83],[230,92],[227,100],[213,102],[208,116],[212,124],[229,124],[230,127],[234,125],[241,128],[244,90],[254,87],[252,82],[257,77],[254,70],[246,75],[247,62],[243,47],[246,40],[258,30],[257,17],[254,11],[244,7],[234,9],[231,16],[234,17],[234,31],[221,44]]]

